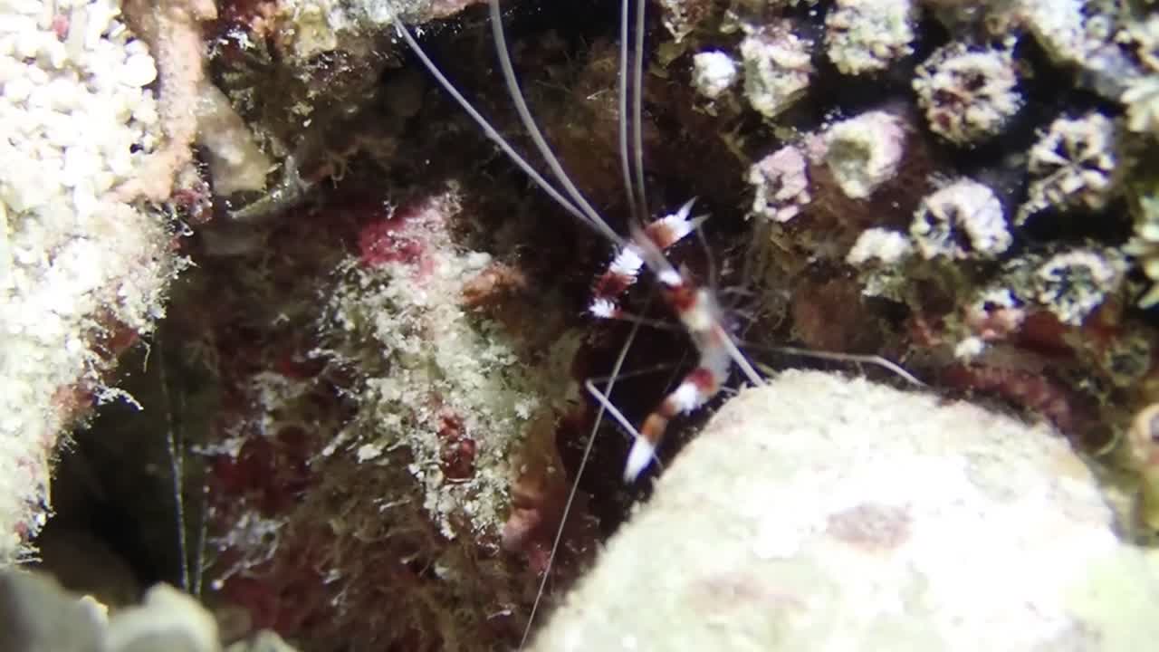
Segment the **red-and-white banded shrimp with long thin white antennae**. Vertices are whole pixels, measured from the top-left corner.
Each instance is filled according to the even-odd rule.
[[[634,17],[632,8],[634,7]],[[709,259],[709,282],[698,281],[685,267],[677,268],[666,256],[666,249],[676,242],[697,233],[705,244],[700,226],[707,216],[694,216],[692,210],[695,200],[690,200],[673,212],[655,220],[649,220],[648,193],[643,165],[642,132],[642,95],[643,95],[643,50],[644,38],[644,2],[634,6],[628,1],[620,3],[620,48],[619,48],[619,84],[618,84],[618,125],[619,155],[621,180],[626,203],[629,209],[628,236],[613,230],[608,222],[593,208],[592,203],[576,187],[564,171],[560,159],[553,152],[546,137],[537,124],[517,79],[506,36],[503,16],[497,0],[490,0],[489,14],[491,35],[495,42],[500,67],[503,74],[510,100],[519,115],[519,122],[526,130],[542,160],[551,171],[551,176],[541,174],[484,117],[462,93],[455,87],[438,65],[427,55],[402,19],[395,15],[395,29],[407,45],[422,61],[428,72],[438,81],[443,89],[471,116],[476,125],[503,153],[520,168],[555,204],[570,213],[580,224],[597,233],[611,244],[615,254],[607,269],[600,274],[592,289],[592,298],[588,314],[596,319],[626,320],[633,324],[625,343],[620,347],[615,362],[605,378],[588,378],[584,383],[589,394],[598,405],[598,412],[591,433],[588,436],[576,480],[571,485],[563,507],[561,526],[555,534],[547,566],[544,570],[529,623],[524,630],[523,644],[532,631],[535,611],[544,597],[552,563],[559,551],[563,524],[576,499],[578,477],[583,473],[592,449],[592,442],[600,428],[605,414],[628,434],[632,441],[630,451],[624,466],[622,479],[632,483],[648,468],[656,457],[656,449],[668,429],[669,422],[678,415],[686,415],[701,408],[724,389],[734,372],[734,365],[744,382],[760,385],[763,376],[741,350],[737,339],[726,324],[724,311],[721,307],[715,290],[715,269]],[[629,30],[629,26],[633,29]],[[632,44],[629,45],[629,37]],[[629,70],[630,68],[630,70]],[[553,181],[554,180],[554,181]],[[659,404],[648,413],[637,428],[611,399],[612,389],[618,378],[622,377],[625,358],[635,341],[641,327],[655,326],[653,320],[640,314],[627,312],[620,305],[621,296],[637,281],[641,271],[647,270],[655,277],[657,291],[666,304],[672,317],[679,321],[679,328],[692,341],[697,352],[695,367],[684,376],[676,389],[669,392]],[[663,325],[662,325],[663,326]],[[918,383],[899,367],[877,356],[862,356],[838,353],[810,352],[800,348],[782,348],[781,353],[790,355],[812,356],[822,360],[879,364],[902,378]],[[767,368],[766,368],[767,369]],[[599,386],[603,384],[603,386]],[[920,383],[919,383],[920,384]]]

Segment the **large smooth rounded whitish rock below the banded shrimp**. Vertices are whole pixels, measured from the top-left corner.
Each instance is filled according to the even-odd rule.
[[[786,372],[727,404],[534,650],[1145,650],[1159,563],[1044,425]]]

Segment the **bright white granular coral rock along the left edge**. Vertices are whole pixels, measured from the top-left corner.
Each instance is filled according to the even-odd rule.
[[[59,433],[118,396],[105,375],[180,267],[169,218],[117,196],[165,139],[119,12],[0,5],[0,565],[48,517]]]

